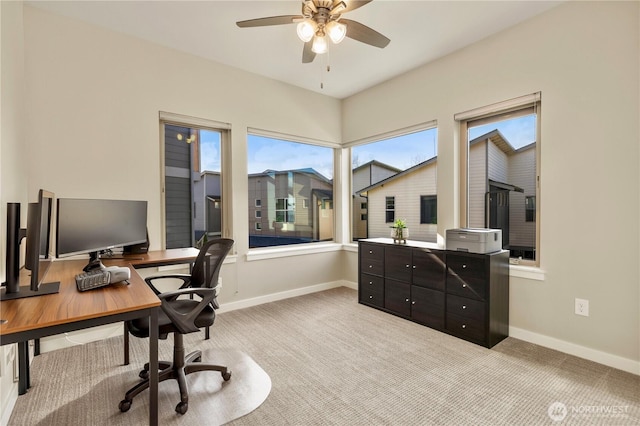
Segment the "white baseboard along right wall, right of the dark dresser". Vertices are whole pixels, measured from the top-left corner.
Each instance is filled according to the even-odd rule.
[[[509,327],[509,336],[525,342],[535,343],[545,348],[555,349],[557,351],[574,355],[579,358],[588,359],[608,367],[617,368],[631,374],[640,375],[640,362],[607,352],[598,351],[596,349],[587,348],[575,343],[566,342],[554,337],[545,336],[531,331],[523,330],[517,327]]]

